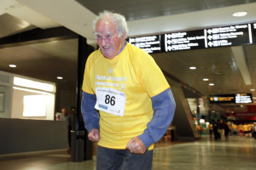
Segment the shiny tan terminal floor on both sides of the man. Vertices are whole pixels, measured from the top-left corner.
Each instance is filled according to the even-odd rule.
[[[256,170],[256,140],[232,136],[229,141],[202,137],[187,143],[160,143],[153,170]],[[1,170],[94,170],[90,161],[70,161],[67,150],[0,156]]]

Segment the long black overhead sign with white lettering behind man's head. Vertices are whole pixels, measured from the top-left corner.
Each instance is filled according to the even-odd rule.
[[[131,37],[128,42],[147,53],[252,44],[256,43],[256,23]]]

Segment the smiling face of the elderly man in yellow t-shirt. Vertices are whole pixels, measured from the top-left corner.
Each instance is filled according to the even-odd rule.
[[[112,21],[99,20],[96,25],[96,39],[102,54],[108,59],[113,59],[123,47],[125,36],[119,37]]]

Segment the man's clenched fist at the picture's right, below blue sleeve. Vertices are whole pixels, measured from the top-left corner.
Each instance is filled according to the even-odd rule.
[[[138,137],[132,138],[126,145],[125,149],[130,150],[133,154],[144,154],[147,150],[143,141]]]

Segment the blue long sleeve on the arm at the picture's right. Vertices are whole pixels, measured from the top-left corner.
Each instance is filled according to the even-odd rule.
[[[151,99],[154,115],[151,121],[148,122],[148,128],[144,130],[143,134],[138,136],[138,138],[143,141],[146,148],[160,140],[166,133],[166,130],[172,122],[176,108],[175,100],[170,88]]]

